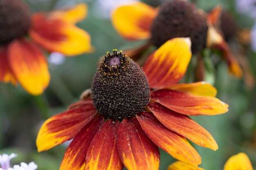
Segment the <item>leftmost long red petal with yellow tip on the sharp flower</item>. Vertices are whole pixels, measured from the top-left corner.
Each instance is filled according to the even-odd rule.
[[[38,132],[38,152],[73,139],[76,133],[97,114],[93,104],[67,110],[45,121]]]

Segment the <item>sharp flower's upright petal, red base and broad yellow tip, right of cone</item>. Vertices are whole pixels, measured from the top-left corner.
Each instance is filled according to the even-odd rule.
[[[143,69],[151,88],[163,88],[182,79],[191,59],[191,40],[168,40],[150,55]]]

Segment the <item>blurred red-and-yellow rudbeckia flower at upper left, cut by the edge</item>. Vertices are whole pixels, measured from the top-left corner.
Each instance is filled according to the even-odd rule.
[[[21,0],[1,0],[0,81],[19,83],[32,95],[43,93],[50,75],[42,49],[64,55],[92,50],[90,35],[75,26],[85,15],[85,4],[31,15]]]

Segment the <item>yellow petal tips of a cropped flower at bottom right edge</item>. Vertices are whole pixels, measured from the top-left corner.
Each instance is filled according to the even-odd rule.
[[[253,170],[252,163],[248,156],[241,152],[231,156],[224,165],[224,170]],[[167,170],[204,170],[200,167],[191,167],[182,162],[176,161],[168,166]]]

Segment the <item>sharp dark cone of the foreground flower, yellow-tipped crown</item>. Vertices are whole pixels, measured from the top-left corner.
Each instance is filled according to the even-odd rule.
[[[150,99],[148,79],[128,56],[107,53],[92,82],[92,100],[108,118],[123,119],[143,111]]]

